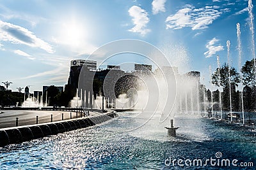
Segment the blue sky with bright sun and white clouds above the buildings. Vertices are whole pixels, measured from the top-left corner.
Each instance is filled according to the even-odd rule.
[[[239,70],[237,23],[242,64],[253,58],[250,21],[248,0],[0,0],[0,82],[12,81],[13,91],[63,86],[70,60],[86,59],[111,41],[140,39],[159,48],[180,73],[200,71],[209,85],[216,56],[227,62],[227,40],[230,63]],[[116,60],[143,64],[131,54]]]

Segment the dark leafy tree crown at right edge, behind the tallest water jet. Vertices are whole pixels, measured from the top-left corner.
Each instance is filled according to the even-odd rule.
[[[241,72],[243,73],[243,85],[248,85],[249,87],[255,86],[255,69],[253,59],[250,61],[246,60]]]

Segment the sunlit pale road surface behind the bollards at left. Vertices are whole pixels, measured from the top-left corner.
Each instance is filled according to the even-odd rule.
[[[70,119],[70,111],[38,111],[38,110],[1,110],[0,111],[0,128],[16,126],[16,118],[19,118],[19,125],[36,124],[36,116],[38,116],[38,124]],[[90,115],[97,113],[91,112]],[[77,114],[81,117],[81,113]],[[84,113],[82,114],[84,116]],[[72,112],[72,118],[76,118],[76,112]]]

